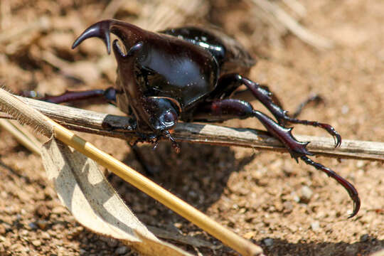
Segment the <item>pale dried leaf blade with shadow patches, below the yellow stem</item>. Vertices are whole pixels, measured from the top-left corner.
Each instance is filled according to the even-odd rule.
[[[55,139],[43,145],[43,164],[60,201],[81,225],[122,240],[143,255],[189,255],[157,239],[134,216],[92,159]]]

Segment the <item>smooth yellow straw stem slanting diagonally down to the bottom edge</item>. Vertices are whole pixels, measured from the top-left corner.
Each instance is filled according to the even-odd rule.
[[[109,154],[106,154],[100,149],[97,149],[94,145],[73,134],[70,130],[65,129],[51,119],[48,119],[47,121],[54,127],[54,133],[57,139],[72,146],[74,149],[97,161],[97,163],[102,166],[105,166],[114,174],[123,178],[124,181],[127,181],[147,195],[163,203],[164,206],[174,210],[176,213],[183,216],[183,218],[186,218],[191,221],[191,223],[194,223],[207,233],[210,233],[210,235],[213,235],[213,237],[222,241],[225,245],[233,248],[233,250],[240,252],[242,255],[262,254],[262,249],[259,246],[236,235],[201,211],[193,208],[185,201],[182,201],[172,193],[169,193],[169,191],[166,191],[164,188],[161,188],[161,186],[149,180],[149,178],[139,174],[121,161],[114,159]]]

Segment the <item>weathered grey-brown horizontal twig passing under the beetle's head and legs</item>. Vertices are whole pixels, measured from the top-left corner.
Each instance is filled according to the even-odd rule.
[[[48,117],[73,130],[90,132],[108,137],[117,137],[134,141],[134,131],[130,126],[129,117],[113,114],[102,114],[75,107],[55,105],[39,100],[18,97]],[[124,129],[121,129],[124,127]],[[120,129],[118,129],[120,128]],[[202,144],[245,146],[256,149],[287,152],[287,149],[267,132],[257,129],[235,129],[211,124],[179,123],[173,134],[179,142]],[[343,139],[340,147],[334,147],[331,137],[311,137],[295,135],[302,142],[311,142],[309,151],[314,154],[334,157],[384,161],[383,142],[363,142]]]

